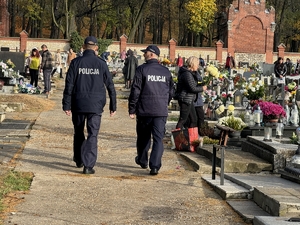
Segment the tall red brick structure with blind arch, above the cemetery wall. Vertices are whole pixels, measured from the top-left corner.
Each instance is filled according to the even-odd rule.
[[[265,61],[272,63],[275,10],[266,9],[265,0],[234,0],[228,21],[229,52],[265,54]]]

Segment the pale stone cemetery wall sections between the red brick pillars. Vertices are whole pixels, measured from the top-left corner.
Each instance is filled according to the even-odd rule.
[[[46,44],[48,49],[53,54],[60,49],[63,53],[67,53],[70,48],[70,42],[65,39],[45,39],[45,38],[28,38],[26,40],[26,53],[28,54],[30,50],[34,47],[40,49],[42,44]],[[21,46],[20,37],[0,37],[0,48],[8,47],[11,52],[19,52]],[[142,56],[141,49],[145,49],[146,44],[135,44],[135,43],[126,43],[125,48],[136,50],[138,55]],[[170,55],[170,46],[169,45],[158,45],[161,50],[161,58],[169,57]],[[119,41],[113,41],[112,44],[108,47],[107,51],[117,52],[121,51],[121,46]],[[216,47],[184,47],[184,46],[175,46],[174,55],[177,58],[178,55],[188,58],[190,56],[202,57],[206,62],[217,61],[219,63],[225,63],[227,57],[227,48],[221,49],[222,59],[217,60],[217,48]],[[278,58],[278,52],[272,53],[272,62],[275,62]],[[284,58],[290,58],[292,62],[296,62],[297,59],[300,59],[300,53],[284,52]],[[266,62],[266,54],[262,53],[235,53],[235,60],[238,64],[239,62],[248,62],[249,65],[257,62]],[[272,63],[270,62],[270,63]]]

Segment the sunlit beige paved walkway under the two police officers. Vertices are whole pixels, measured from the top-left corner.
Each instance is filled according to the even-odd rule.
[[[106,107],[96,173],[83,175],[72,161],[73,129],[61,109],[62,90],[61,82],[51,96],[56,107],[38,115],[30,132],[15,169],[33,172],[34,179],[4,224],[245,224],[167,143],[158,176],[135,164],[135,121],[124,99],[115,117]]]

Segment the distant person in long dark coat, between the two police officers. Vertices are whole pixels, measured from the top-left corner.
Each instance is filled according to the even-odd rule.
[[[132,84],[132,79],[135,74],[135,70],[138,66],[138,60],[137,58],[133,55],[133,51],[129,49],[127,51],[127,57],[124,62],[124,79],[125,79],[125,88],[130,89],[131,84]]]

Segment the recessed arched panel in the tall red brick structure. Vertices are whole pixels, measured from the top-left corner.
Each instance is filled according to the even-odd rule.
[[[260,19],[255,16],[244,17],[237,26],[233,38],[236,52],[261,53],[266,52],[266,30]]]

